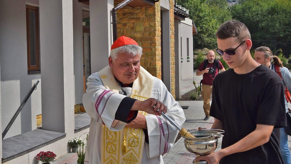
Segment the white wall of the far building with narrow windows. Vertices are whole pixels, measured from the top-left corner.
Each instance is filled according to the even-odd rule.
[[[184,21],[181,21],[180,36],[182,37],[183,62],[181,63],[181,73],[183,80],[189,77],[193,77],[193,31],[191,19],[185,18]],[[189,62],[187,62],[187,38],[189,38]]]

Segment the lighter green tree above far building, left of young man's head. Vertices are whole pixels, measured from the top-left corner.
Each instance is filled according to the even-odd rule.
[[[220,24],[231,19],[225,0],[177,0],[179,5],[189,10],[189,18],[197,27],[194,47],[214,49],[217,47],[215,33]]]

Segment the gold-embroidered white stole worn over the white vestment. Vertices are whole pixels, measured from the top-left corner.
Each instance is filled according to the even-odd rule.
[[[115,80],[111,67],[105,67],[98,74],[105,88],[109,88],[116,93],[120,91],[120,86]],[[141,101],[150,98],[152,95],[152,84],[153,76],[141,67],[139,76],[134,80],[130,97]],[[147,115],[146,112],[139,112]],[[124,138],[127,147],[125,152],[122,151]],[[124,127],[120,131],[110,131],[103,125],[101,134],[101,163],[140,164],[143,155],[144,139],[145,134],[142,128]]]

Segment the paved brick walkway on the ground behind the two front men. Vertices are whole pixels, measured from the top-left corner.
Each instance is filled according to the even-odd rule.
[[[190,77],[187,79],[182,80],[182,94],[187,93],[188,91],[191,91],[194,89],[193,85],[193,79],[196,82],[196,87],[198,87],[198,84],[200,80],[202,79],[202,76],[196,76],[196,73],[193,73],[194,78]],[[184,110],[186,121],[183,124],[182,128],[189,128],[189,129],[198,129],[198,127],[203,128],[210,128],[214,122],[214,118],[210,117],[209,120],[203,121],[205,114],[203,112],[203,101],[179,101],[181,106],[189,106],[188,109]],[[290,105],[291,107],[291,105]],[[289,149],[291,145],[291,137],[288,136],[289,139]],[[217,150],[221,149],[221,140],[218,141],[218,148]],[[216,150],[216,151],[217,151]],[[164,163],[168,164],[175,164],[175,163],[185,163],[185,164],[191,164],[193,160],[195,159],[195,155],[191,154],[186,150],[184,147],[184,139],[181,137],[173,146],[173,148],[167,153],[163,155]],[[59,164],[77,164],[77,154],[76,153],[68,153],[64,156],[61,156],[58,158],[54,163]]]

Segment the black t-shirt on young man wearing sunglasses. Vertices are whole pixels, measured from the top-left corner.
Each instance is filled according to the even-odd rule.
[[[235,144],[257,124],[274,125],[270,140],[254,149],[231,154],[219,164],[284,163],[280,149],[280,127],[286,126],[284,88],[280,77],[266,66],[239,75],[233,69],[214,78],[210,115],[222,121],[225,133],[221,148]]]

